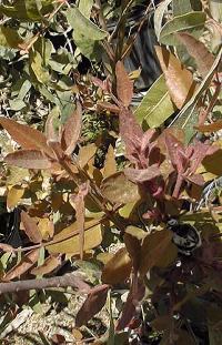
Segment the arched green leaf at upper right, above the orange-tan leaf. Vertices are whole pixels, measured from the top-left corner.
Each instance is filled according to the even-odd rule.
[[[160,32],[160,42],[167,45],[180,45],[180,41],[175,37],[175,32],[188,31],[192,32],[194,37],[199,37],[206,16],[204,12],[190,12],[179,17],[174,17],[167,22]]]

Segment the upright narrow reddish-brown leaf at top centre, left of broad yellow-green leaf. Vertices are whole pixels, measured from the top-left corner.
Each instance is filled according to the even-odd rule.
[[[121,61],[115,64],[117,93],[119,100],[128,108],[133,95],[133,82],[130,80]]]

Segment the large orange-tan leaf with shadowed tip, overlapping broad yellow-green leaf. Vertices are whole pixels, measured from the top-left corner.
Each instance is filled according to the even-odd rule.
[[[191,99],[195,89],[192,73],[165,48],[155,47],[155,51],[172,101],[178,109],[181,109]]]

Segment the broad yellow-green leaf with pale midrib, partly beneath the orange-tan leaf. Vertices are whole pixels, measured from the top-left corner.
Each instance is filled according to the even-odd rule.
[[[171,101],[163,74],[152,84],[134,114],[139,123],[145,122],[150,128],[158,128],[172,113],[174,106]]]

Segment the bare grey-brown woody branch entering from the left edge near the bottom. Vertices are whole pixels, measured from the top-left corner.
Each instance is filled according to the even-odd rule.
[[[42,290],[48,287],[68,287],[68,286],[77,288],[82,293],[88,293],[90,291],[90,285],[84,283],[80,277],[74,276],[72,273],[41,280],[27,280],[27,281],[0,283],[0,294],[13,293],[24,290]]]

